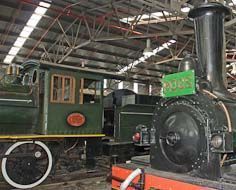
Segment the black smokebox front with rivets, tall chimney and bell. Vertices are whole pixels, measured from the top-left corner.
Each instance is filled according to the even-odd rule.
[[[224,18],[229,14],[219,3],[190,11],[197,59],[183,59],[179,71],[191,70],[194,88],[191,94],[173,95],[183,83],[191,85],[188,77],[175,77],[175,83],[163,87],[172,90],[173,97],[161,99],[154,112],[152,168],[219,179],[223,168],[235,163],[236,97],[227,91],[224,60]]]

